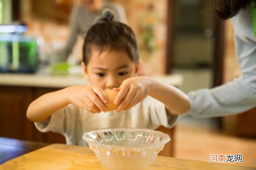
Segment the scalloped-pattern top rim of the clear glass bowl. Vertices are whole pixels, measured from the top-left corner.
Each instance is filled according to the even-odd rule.
[[[161,141],[160,143],[152,143],[150,145],[147,145],[147,146],[138,146],[138,147],[130,147],[130,146],[117,146],[117,145],[108,145],[108,144],[99,144],[98,142],[95,142],[95,141],[91,141],[89,138],[86,137],[86,135],[88,135],[89,133],[93,133],[93,132],[102,132],[102,131],[106,131],[106,130],[111,130],[111,131],[114,131],[114,130],[136,130],[136,131],[146,131],[146,132],[153,132],[153,133],[158,133],[158,134],[161,134],[163,136],[166,137],[165,140]],[[104,129],[99,129],[99,130],[92,130],[92,131],[88,131],[88,132],[85,132],[84,135],[83,135],[83,140],[85,140],[87,143],[93,143],[94,145],[97,145],[97,146],[104,146],[106,148],[118,148],[118,149],[126,149],[126,148],[133,148],[133,149],[141,149],[141,147],[143,148],[152,148],[152,147],[158,147],[158,146],[162,146],[162,145],[165,145],[167,142],[169,142],[171,140],[171,137],[163,132],[160,132],[160,131],[155,131],[155,130],[152,130],[152,129],[145,129],[145,128],[104,128]]]

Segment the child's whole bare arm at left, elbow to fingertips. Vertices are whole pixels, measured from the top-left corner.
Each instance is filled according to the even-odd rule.
[[[71,86],[34,100],[28,107],[27,118],[33,122],[48,119],[54,112],[70,103],[91,113],[106,112],[107,108],[102,101],[107,103],[108,98],[99,87]]]

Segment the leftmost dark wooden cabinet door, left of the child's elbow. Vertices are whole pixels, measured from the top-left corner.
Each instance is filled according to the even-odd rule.
[[[0,87],[0,136],[27,138],[26,111],[32,100],[32,89]],[[29,132],[28,132],[29,133]]]

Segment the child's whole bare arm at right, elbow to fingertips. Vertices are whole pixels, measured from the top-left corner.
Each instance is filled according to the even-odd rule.
[[[147,95],[164,103],[168,113],[172,115],[183,114],[191,107],[189,98],[181,90],[171,85],[162,84],[150,77],[126,79],[119,88],[114,90],[119,91],[115,104],[120,103],[120,105],[116,112],[131,108]],[[123,101],[120,102],[122,99]]]

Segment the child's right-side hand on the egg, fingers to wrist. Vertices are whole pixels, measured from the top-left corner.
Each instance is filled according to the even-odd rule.
[[[116,105],[120,103],[116,112],[127,110],[141,102],[152,89],[153,84],[150,77],[133,77],[124,80],[119,88],[113,89],[119,91],[114,101]]]

